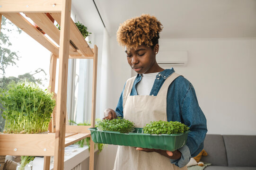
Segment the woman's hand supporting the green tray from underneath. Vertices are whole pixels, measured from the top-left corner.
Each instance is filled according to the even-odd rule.
[[[137,147],[136,150],[144,151],[144,152],[156,152],[173,160],[180,159],[181,157],[181,153],[178,150],[171,152],[171,151],[164,151],[161,149],[148,149],[148,148],[140,148],[140,147]]]

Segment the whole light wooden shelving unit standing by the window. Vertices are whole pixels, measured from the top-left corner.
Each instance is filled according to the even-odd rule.
[[[20,13],[39,26],[56,42],[55,45]],[[54,26],[50,15],[61,26]],[[71,19],[71,0],[0,0],[0,18],[8,18],[52,52],[49,91],[55,90],[56,64],[59,58],[57,103],[48,134],[0,134],[0,155],[44,156],[44,170],[50,169],[50,156],[54,156],[54,170],[63,170],[64,148],[90,136],[89,127],[95,126],[97,46],[91,49]],[[71,40],[71,41],[70,41]],[[72,43],[71,43],[72,42]],[[33,48],[33,47],[30,47]],[[66,125],[68,59],[93,59],[93,87],[91,126]],[[90,165],[94,167],[94,143],[90,141]]]

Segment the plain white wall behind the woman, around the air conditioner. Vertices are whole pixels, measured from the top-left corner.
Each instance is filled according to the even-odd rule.
[[[256,39],[162,39],[159,46],[163,51],[188,51],[187,65],[174,69],[194,85],[208,134],[256,135]],[[115,37],[110,63],[108,100],[115,109],[125,81],[133,75]],[[113,169],[116,149],[103,149],[98,170]]]

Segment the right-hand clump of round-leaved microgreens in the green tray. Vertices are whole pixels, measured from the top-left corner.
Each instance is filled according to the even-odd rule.
[[[146,134],[179,134],[185,133],[189,127],[178,121],[153,121],[143,128]]]

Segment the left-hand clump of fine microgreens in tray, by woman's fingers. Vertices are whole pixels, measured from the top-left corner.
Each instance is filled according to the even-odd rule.
[[[129,133],[134,131],[134,123],[120,117],[112,120],[104,119],[98,121],[95,127],[99,130],[116,131],[120,133]]]

